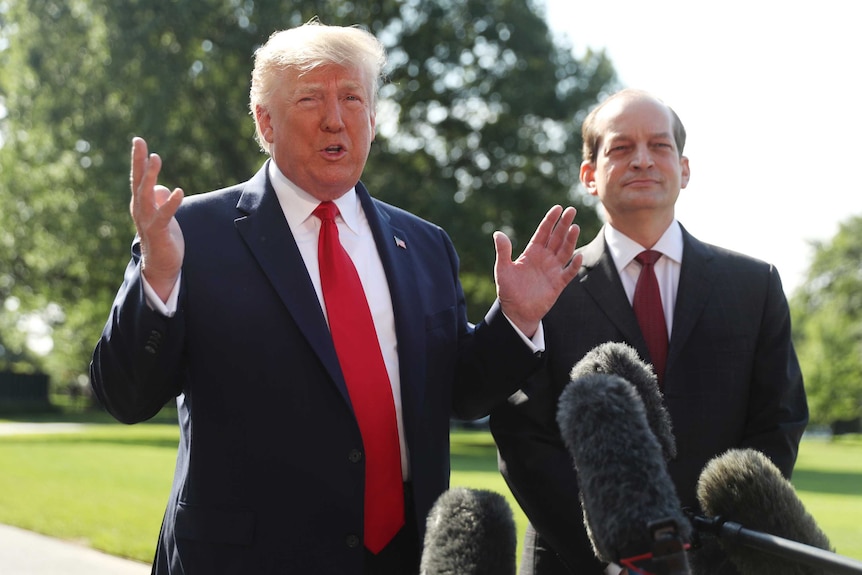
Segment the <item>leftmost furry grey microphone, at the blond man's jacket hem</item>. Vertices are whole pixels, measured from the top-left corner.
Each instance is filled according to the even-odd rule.
[[[515,575],[512,508],[494,491],[454,487],[428,514],[420,575]]]

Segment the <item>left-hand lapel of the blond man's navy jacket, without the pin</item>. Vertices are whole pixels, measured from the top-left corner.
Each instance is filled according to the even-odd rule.
[[[237,231],[349,403],[323,310],[269,182],[266,164],[246,184],[237,209]]]

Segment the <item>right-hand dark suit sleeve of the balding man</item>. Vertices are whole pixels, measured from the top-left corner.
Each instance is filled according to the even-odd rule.
[[[790,310],[775,268],[770,269],[763,309],[741,447],[762,451],[789,478],[808,424],[808,403],[791,341]]]

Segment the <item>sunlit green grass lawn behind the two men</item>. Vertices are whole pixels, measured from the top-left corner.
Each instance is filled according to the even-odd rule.
[[[79,433],[0,437],[0,523],[152,559],[174,469],[172,424],[93,424]],[[452,485],[505,495],[487,432],[452,432]],[[836,551],[862,560],[862,439],[807,440],[794,485]],[[519,551],[520,553],[520,551]]]

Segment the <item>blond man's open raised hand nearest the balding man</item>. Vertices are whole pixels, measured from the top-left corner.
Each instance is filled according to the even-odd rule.
[[[572,257],[581,232],[573,224],[576,213],[573,207],[548,210],[515,261],[508,236],[494,232],[494,281],[500,307],[527,337],[536,333],[541,319],[581,267],[582,257]]]

